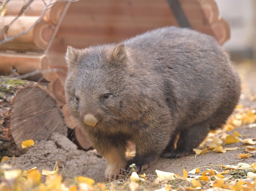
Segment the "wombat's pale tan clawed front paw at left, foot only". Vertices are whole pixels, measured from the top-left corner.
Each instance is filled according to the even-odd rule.
[[[116,179],[118,174],[123,174],[126,165],[127,165],[126,162],[122,163],[122,164],[112,164],[112,165],[108,164],[108,166],[105,170],[105,173],[104,173],[106,180]]]

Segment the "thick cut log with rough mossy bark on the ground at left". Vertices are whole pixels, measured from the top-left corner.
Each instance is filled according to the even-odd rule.
[[[27,80],[0,77],[0,155],[19,156],[21,142],[67,135],[64,120],[46,88]],[[64,128],[63,128],[64,127]]]

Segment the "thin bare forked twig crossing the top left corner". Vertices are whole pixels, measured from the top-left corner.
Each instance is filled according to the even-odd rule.
[[[26,5],[30,5],[33,1],[34,1],[34,0],[30,0]],[[50,0],[49,4],[46,5],[44,11],[42,12],[42,14],[41,14],[40,17],[38,18],[38,20],[37,20],[32,26],[30,26],[26,31],[23,31],[22,33],[13,35],[13,36],[11,36],[11,37],[6,37],[6,36],[4,35],[4,32],[5,32],[5,31],[14,23],[14,21],[16,21],[16,20],[20,17],[20,15],[27,9],[28,6],[24,5],[23,8],[22,8],[21,11],[20,11],[21,14],[19,13],[18,16],[15,17],[15,18],[12,20],[12,22],[9,23],[8,25],[6,25],[6,26],[4,27],[4,29],[1,31],[1,34],[2,34],[2,36],[4,37],[4,39],[0,41],[0,45],[4,44],[5,42],[8,42],[8,41],[10,41],[10,40],[13,40],[13,39],[15,39],[15,38],[17,38],[17,37],[19,37],[19,36],[21,36],[21,35],[23,35],[23,34],[27,34],[34,26],[36,26],[36,24],[38,24],[38,23],[42,20],[42,18],[44,17],[44,13],[48,10],[49,6],[51,6],[51,5],[55,4],[55,3],[59,3],[59,2],[64,2],[64,1],[76,2],[76,1],[78,1],[78,0],[60,0],[60,1],[56,1],[56,2],[54,2],[54,3],[52,3],[52,1],[53,1],[53,0]]]

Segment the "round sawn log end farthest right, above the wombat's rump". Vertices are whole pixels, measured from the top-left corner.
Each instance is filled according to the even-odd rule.
[[[216,22],[211,24],[216,39],[220,44],[224,44],[230,38],[230,27],[228,22],[219,16]]]

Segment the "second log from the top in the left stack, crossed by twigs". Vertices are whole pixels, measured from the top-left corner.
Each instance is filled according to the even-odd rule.
[[[15,16],[5,16],[0,19],[0,31],[7,26]],[[23,33],[33,26],[39,19],[37,16],[20,16],[5,32],[6,37]],[[15,39],[4,43],[0,49],[7,50],[44,50],[53,33],[54,26],[44,20],[37,23],[28,33],[20,35]],[[0,40],[3,40],[0,36]],[[26,46],[24,46],[24,44]]]

